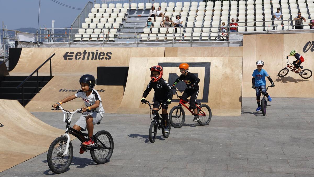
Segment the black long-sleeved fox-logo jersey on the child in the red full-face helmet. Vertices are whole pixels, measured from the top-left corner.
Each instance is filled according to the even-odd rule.
[[[146,98],[149,92],[154,88],[155,100],[156,101],[166,101],[172,99],[172,90],[165,79],[160,78],[157,82],[150,81],[143,93],[143,97]]]

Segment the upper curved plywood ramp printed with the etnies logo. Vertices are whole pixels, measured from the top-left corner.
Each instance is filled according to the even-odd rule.
[[[165,48],[23,48],[10,75],[29,75],[52,54],[52,74],[97,72],[97,66],[128,66],[130,57],[163,57]],[[40,75],[50,73],[49,62]]]

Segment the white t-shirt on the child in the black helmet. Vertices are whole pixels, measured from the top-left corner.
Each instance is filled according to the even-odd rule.
[[[97,90],[93,89],[92,93],[90,93],[89,96],[86,96],[86,93],[80,90],[75,94],[75,96],[76,98],[82,98],[86,107],[94,105],[95,101],[99,100],[100,101],[99,107],[95,108],[93,111],[96,111],[102,114],[105,113],[104,108],[102,107],[102,104],[101,104],[100,95],[98,94]]]

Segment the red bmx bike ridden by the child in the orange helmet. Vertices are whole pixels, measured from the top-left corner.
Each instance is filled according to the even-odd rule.
[[[191,112],[192,115],[194,115],[193,110],[189,109],[185,104],[190,104],[189,100],[184,101],[182,100],[181,96],[178,96],[177,91],[183,91],[183,90],[176,90],[176,96],[180,98],[180,102],[178,106],[174,106],[170,112],[169,112],[169,122],[172,127],[174,128],[180,128],[182,127],[184,121],[185,121],[185,112],[182,108],[182,105],[187,108]],[[196,101],[196,107],[198,109],[198,116],[200,119],[198,120],[198,123],[200,125],[208,125],[210,120],[212,119],[212,111],[210,110],[210,107],[206,104],[202,104],[199,101]],[[198,106],[199,105],[199,106]]]

